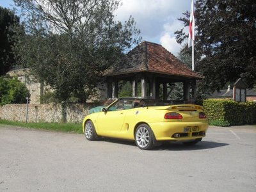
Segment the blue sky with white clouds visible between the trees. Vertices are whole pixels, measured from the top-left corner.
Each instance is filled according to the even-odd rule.
[[[12,0],[0,0],[0,6],[5,8],[12,8],[13,4]],[[115,15],[120,21],[132,15],[143,40],[161,44],[177,56],[181,45],[177,44],[174,31],[183,27],[177,18],[190,10],[190,5],[191,0],[122,0]],[[185,31],[188,33],[188,29]]]

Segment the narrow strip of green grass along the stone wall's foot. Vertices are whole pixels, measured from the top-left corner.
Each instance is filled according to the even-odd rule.
[[[0,120],[0,124],[5,125],[15,125],[20,127],[34,128],[34,129],[45,129],[52,131],[61,131],[61,132],[76,132],[82,134],[82,124],[59,124],[59,123],[24,123],[24,122],[11,122],[8,120]]]

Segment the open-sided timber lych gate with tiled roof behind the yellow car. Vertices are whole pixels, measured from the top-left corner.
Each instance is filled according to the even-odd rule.
[[[202,76],[193,72],[163,46],[142,42],[108,72],[108,97],[118,97],[119,81],[130,81],[133,97],[139,96],[140,84],[141,97],[172,100],[168,98],[168,84],[181,82],[184,102],[193,102],[196,79],[202,79]]]

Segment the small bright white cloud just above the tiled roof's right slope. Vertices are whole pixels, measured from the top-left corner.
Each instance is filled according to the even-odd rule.
[[[171,36],[170,33],[164,33],[160,38],[160,43],[165,49],[172,52],[172,54],[175,56],[178,55],[181,46],[176,42],[175,36]]]

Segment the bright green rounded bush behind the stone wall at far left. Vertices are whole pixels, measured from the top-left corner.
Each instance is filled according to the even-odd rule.
[[[0,105],[10,103],[26,103],[29,97],[26,86],[17,78],[0,77]]]

